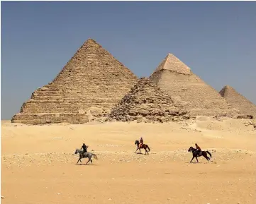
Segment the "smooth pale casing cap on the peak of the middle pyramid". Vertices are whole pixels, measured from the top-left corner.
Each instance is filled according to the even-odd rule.
[[[161,70],[169,70],[184,75],[191,74],[189,66],[184,64],[180,59],[177,58],[177,56],[174,56],[174,54],[170,53],[167,54],[165,59],[162,60],[162,62],[157,66],[154,72]]]

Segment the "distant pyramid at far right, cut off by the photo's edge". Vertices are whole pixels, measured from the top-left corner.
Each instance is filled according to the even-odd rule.
[[[243,95],[240,95],[234,88],[226,85],[219,92],[222,97],[224,97],[232,107],[239,109],[240,114],[252,115],[256,117],[256,106]]]

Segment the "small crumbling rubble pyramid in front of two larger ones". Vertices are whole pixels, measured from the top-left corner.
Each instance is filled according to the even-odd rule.
[[[111,110],[110,120],[167,122],[189,119],[187,111],[173,102],[148,78],[140,78]]]

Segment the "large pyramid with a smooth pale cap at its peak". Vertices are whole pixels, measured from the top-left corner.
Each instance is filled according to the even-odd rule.
[[[235,116],[216,90],[207,85],[173,54],[168,54],[150,76],[162,91],[182,103],[191,116]]]

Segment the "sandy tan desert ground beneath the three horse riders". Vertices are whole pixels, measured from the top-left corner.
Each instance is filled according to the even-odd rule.
[[[256,131],[247,120],[26,126],[1,121],[2,203],[255,203]],[[150,155],[135,153],[143,136]],[[76,164],[89,145],[99,160]],[[189,163],[198,143],[213,157]],[[142,150],[144,153],[144,150]],[[196,162],[196,161],[194,161]]]

